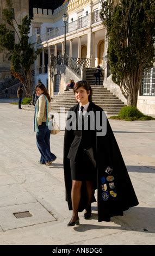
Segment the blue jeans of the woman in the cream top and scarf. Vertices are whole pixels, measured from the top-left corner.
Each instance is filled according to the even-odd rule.
[[[40,151],[41,163],[47,163],[53,161],[55,159],[55,155],[51,153],[50,150],[50,131],[45,122],[42,122],[41,125],[38,126],[39,132],[36,132],[36,145]]]

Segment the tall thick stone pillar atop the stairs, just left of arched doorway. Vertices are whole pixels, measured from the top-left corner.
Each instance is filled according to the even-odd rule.
[[[90,66],[95,66],[95,32],[91,32],[91,28],[88,32],[87,40],[87,56],[86,58],[90,59]]]

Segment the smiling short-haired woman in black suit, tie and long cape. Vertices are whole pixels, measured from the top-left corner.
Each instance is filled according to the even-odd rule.
[[[72,210],[67,226],[79,224],[78,211],[85,209],[86,220],[91,217],[95,189],[98,222],[110,221],[138,199],[107,116],[91,100],[91,86],[79,81],[73,92],[78,104],[68,112],[64,136],[66,201]]]

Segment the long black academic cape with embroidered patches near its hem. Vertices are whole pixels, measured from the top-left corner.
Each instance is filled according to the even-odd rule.
[[[78,113],[79,104],[72,107],[70,111]],[[70,113],[69,111],[69,113]],[[117,145],[113,131],[111,130],[109,121],[104,118],[103,109],[90,102],[88,113],[93,111],[95,120],[97,112],[100,113],[100,118],[104,119],[103,129],[107,128],[106,135],[98,136],[98,129],[96,129],[96,188],[97,188],[97,206],[98,206],[98,222],[110,221],[110,217],[123,216],[123,211],[130,207],[138,205],[138,199],[135,195],[131,179],[129,178],[127,168],[123,161],[119,146]],[[68,115],[67,120],[70,120]],[[87,115],[89,118],[89,115]],[[72,122],[76,121],[72,118]],[[102,120],[101,123],[102,124]],[[96,127],[96,125],[95,125]],[[98,127],[98,126],[97,126]],[[70,146],[75,136],[82,138],[82,131],[73,131],[65,129],[64,137],[64,178],[66,187],[66,201],[69,205],[69,210],[72,210],[71,202],[71,170],[70,159],[67,158]],[[92,200],[94,202],[95,200]],[[86,208],[86,190],[83,182],[81,199],[78,211],[83,211]]]

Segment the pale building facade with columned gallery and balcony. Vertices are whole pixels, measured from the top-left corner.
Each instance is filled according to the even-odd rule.
[[[53,14],[46,9],[34,8],[30,43],[34,50],[42,48],[33,66],[34,81],[36,83],[40,78],[49,94],[64,92],[70,78],[75,82],[84,79],[84,68],[99,64],[104,69],[104,87],[126,103],[120,87],[113,83],[109,74],[108,42],[100,9],[100,0],[65,1]],[[62,20],[64,14],[67,15],[65,23]],[[138,108],[143,113],[155,114],[154,68],[149,72],[142,80]]]

